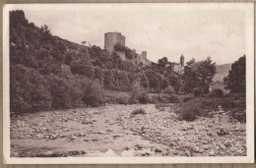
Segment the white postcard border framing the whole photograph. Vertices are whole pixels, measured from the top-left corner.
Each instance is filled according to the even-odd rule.
[[[204,7],[245,10],[246,45],[246,145],[247,156],[233,157],[59,157],[59,158],[14,158],[10,157],[10,108],[9,108],[9,11],[30,10],[83,10],[102,6],[127,5],[133,8],[174,6],[187,9]],[[3,149],[6,164],[164,164],[164,163],[253,163],[254,162],[254,6],[253,3],[211,3],[211,4],[9,4],[3,14]],[[242,27],[242,26],[241,26]]]

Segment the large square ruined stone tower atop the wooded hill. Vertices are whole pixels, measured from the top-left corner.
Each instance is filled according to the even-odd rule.
[[[125,36],[121,32],[106,32],[104,34],[104,49],[112,52],[114,50],[114,45],[119,43],[125,46]]]

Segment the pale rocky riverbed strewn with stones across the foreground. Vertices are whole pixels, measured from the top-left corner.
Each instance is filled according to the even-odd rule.
[[[138,108],[146,114],[132,115]],[[245,156],[245,124],[221,107],[213,116],[178,121],[154,104],[12,115],[11,156]]]

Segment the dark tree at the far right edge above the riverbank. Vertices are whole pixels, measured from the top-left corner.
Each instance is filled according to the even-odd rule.
[[[245,93],[245,55],[231,65],[227,77],[224,78],[225,88],[232,93]]]

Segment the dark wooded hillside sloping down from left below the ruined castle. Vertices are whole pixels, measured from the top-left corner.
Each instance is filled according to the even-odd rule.
[[[54,36],[47,26],[30,23],[23,11],[10,12],[11,111],[98,106],[105,102],[104,90],[129,91],[134,84],[179,89],[175,73],[135,61]]]

